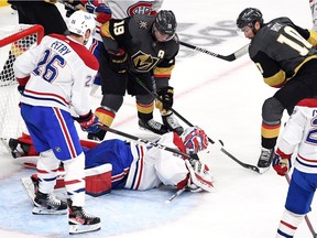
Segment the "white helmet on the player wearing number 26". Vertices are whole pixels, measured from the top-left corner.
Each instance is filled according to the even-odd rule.
[[[92,14],[78,10],[69,17],[68,31],[78,35],[85,35],[89,29],[92,34],[96,21]]]

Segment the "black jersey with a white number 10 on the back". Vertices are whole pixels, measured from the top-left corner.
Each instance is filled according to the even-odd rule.
[[[251,41],[249,54],[264,82],[282,87],[306,62],[317,57],[316,33],[295,25],[287,18],[264,24]],[[309,43],[310,42],[310,43]]]

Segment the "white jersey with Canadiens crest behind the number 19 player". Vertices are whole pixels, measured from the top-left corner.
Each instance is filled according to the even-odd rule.
[[[105,3],[110,8],[113,19],[123,19],[134,14],[154,14],[161,9],[163,0],[106,0]]]

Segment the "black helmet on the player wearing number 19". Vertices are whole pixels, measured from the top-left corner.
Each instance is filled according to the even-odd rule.
[[[175,35],[177,28],[176,18],[173,11],[168,10],[158,11],[154,20],[154,28],[160,33],[167,35],[166,41],[172,40]]]

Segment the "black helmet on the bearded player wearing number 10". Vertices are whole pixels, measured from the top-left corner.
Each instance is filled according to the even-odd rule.
[[[249,25],[253,30],[255,22],[260,22],[261,25],[263,24],[261,11],[255,8],[247,8],[239,14],[237,19],[237,26],[242,29],[245,25]]]

